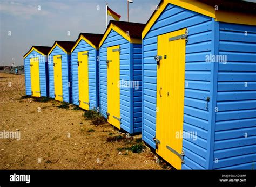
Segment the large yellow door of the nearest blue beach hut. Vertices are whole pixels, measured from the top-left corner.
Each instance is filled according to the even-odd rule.
[[[159,35],[156,57],[156,152],[176,169],[183,159],[185,31]]]

